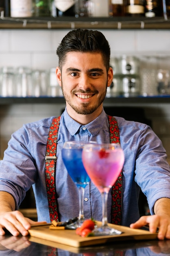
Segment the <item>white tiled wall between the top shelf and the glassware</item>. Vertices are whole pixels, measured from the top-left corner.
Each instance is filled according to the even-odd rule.
[[[0,67],[28,66],[50,69],[58,63],[55,54],[69,30],[1,29]],[[111,56],[120,54],[170,55],[169,30],[101,30],[111,46]]]

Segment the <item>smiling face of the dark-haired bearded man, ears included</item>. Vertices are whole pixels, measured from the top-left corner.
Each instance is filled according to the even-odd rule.
[[[107,74],[100,53],[67,53],[62,70],[57,71],[67,109],[72,108],[81,115],[97,110],[113,79],[110,72]]]

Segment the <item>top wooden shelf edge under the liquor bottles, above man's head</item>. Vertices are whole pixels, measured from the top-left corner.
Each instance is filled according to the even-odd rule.
[[[0,29],[170,29],[170,18],[0,17]]]

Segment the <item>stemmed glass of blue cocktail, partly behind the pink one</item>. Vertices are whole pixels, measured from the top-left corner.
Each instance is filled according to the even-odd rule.
[[[89,183],[90,178],[82,162],[83,146],[85,146],[85,143],[83,142],[67,141],[64,143],[61,151],[62,159],[68,171],[68,174],[78,187],[79,216],[77,222],[74,222],[72,225],[69,226],[72,229],[80,227],[83,221],[85,220],[83,211],[83,198],[85,192],[84,189],[85,186],[87,186],[87,184]]]

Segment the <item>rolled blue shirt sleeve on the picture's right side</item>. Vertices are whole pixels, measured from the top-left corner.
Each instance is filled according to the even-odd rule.
[[[148,199],[150,213],[159,198],[170,198],[170,166],[166,150],[153,130],[144,124],[136,143],[135,181]]]

